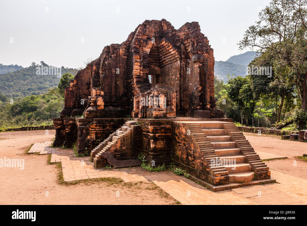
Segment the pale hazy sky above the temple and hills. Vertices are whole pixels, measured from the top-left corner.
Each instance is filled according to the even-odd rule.
[[[104,46],[126,41],[145,20],[162,18],[175,29],[199,22],[215,60],[225,61],[247,51],[239,51],[237,43],[269,2],[0,0],[0,63],[27,67],[45,61],[78,68],[88,58],[96,59]]]

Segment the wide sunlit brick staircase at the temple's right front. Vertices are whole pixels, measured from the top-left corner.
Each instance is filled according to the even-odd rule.
[[[257,180],[270,179],[269,168],[234,123],[191,123],[187,128],[213,181],[229,177],[229,183],[223,180],[224,185],[250,185],[255,175]]]

